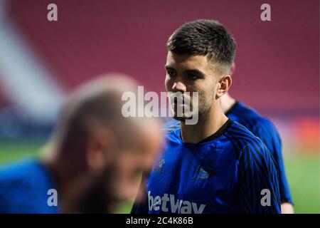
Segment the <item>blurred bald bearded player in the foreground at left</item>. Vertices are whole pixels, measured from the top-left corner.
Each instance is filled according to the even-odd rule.
[[[137,195],[140,170],[161,145],[155,120],[122,117],[122,93],[137,85],[102,77],[75,90],[40,160],[0,170],[0,213],[109,213]],[[58,192],[58,206],[48,204]]]

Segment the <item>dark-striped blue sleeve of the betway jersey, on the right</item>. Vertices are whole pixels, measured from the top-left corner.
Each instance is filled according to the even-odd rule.
[[[281,213],[277,167],[260,140],[247,144],[240,154],[237,188],[242,212]]]

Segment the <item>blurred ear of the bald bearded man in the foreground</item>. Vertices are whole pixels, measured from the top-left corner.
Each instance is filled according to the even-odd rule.
[[[87,141],[87,165],[90,170],[105,168],[114,157],[115,137],[107,128],[97,127]]]

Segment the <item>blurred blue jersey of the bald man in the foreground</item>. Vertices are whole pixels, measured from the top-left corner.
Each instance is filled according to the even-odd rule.
[[[58,213],[48,205],[48,190],[55,189],[50,173],[33,159],[0,168],[0,214]]]

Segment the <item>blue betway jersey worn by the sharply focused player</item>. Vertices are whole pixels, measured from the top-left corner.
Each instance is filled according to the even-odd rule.
[[[277,166],[244,126],[229,119],[199,143],[183,142],[180,128],[165,138],[136,213],[280,213]]]

